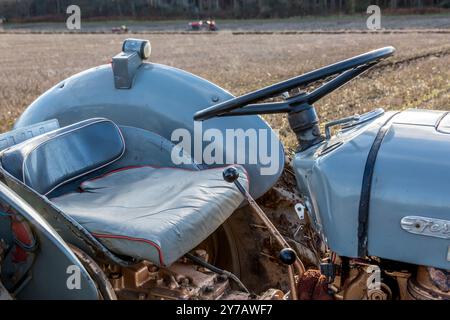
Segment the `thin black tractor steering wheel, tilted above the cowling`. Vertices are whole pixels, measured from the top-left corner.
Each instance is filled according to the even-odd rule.
[[[385,47],[340,61],[201,110],[194,115],[194,120],[203,121],[214,117],[238,115],[289,113],[299,105],[305,103],[312,105],[314,102],[367,71],[382,59],[391,56],[394,52],[394,47]],[[308,86],[320,80],[326,81],[332,76],[335,77],[312,92],[289,97],[283,102],[256,103],[264,99],[279,96],[284,92],[298,87]]]

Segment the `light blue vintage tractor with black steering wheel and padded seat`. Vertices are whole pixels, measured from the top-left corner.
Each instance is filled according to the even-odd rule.
[[[126,40],[0,135],[0,299],[449,299],[449,113],[314,109],[393,53],[234,97]]]

